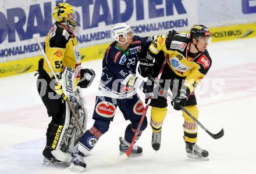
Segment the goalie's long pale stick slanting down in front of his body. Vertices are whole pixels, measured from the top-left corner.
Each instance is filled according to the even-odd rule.
[[[52,71],[52,74],[54,74],[54,78],[55,78],[56,82],[59,84],[59,79],[58,79],[57,75],[55,74],[54,69],[52,68],[51,63],[49,62],[49,59],[48,59],[47,55],[45,55],[44,49],[42,49],[42,45],[41,45],[40,42],[38,41],[37,35],[35,35],[34,38],[35,38],[35,41],[37,41],[37,44],[38,44],[38,46],[39,46],[39,48],[40,48],[40,50],[41,50],[41,52],[42,52],[42,55],[44,55],[44,58],[45,58],[45,60],[47,61],[47,64],[48,64],[49,68],[50,68],[51,71]],[[70,103],[69,100],[66,100],[66,102],[67,102],[67,104],[69,105],[69,108],[70,108],[72,114],[74,115],[74,119],[76,119],[77,125],[79,126],[81,132],[84,133],[84,129],[82,128],[82,126],[81,126],[81,124],[80,124],[80,122],[79,122],[79,119],[77,118],[77,114],[76,114],[76,112],[74,111],[74,109],[73,109],[73,107],[72,107],[72,104]]]

